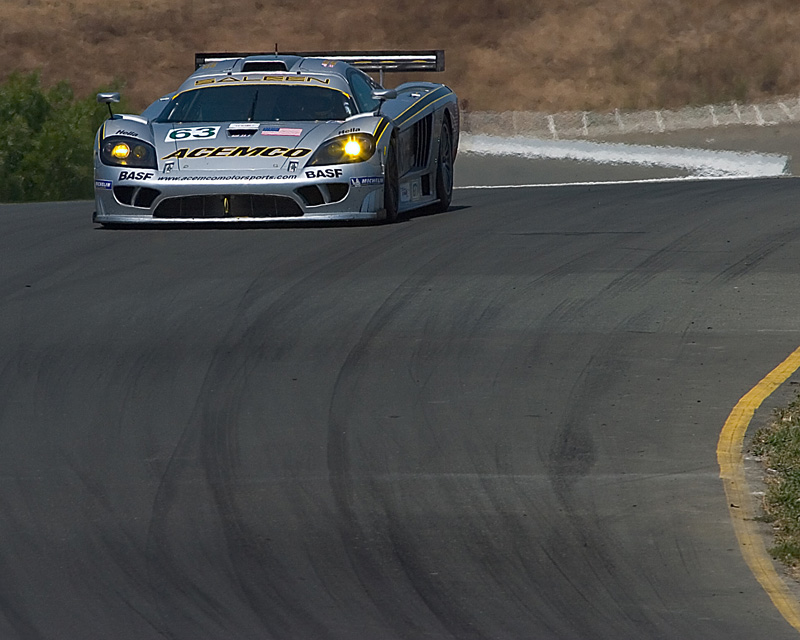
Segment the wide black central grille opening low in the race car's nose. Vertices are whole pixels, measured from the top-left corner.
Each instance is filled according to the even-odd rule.
[[[156,218],[299,218],[303,210],[291,198],[272,195],[208,195],[167,198]]]

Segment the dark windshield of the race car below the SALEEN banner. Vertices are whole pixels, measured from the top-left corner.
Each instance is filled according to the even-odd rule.
[[[354,112],[348,96],[327,87],[229,85],[180,93],[156,121],[344,120]]]

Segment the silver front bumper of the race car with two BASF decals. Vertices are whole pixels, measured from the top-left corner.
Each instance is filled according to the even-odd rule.
[[[94,222],[196,224],[380,220],[380,165],[296,173],[126,171],[95,167]]]

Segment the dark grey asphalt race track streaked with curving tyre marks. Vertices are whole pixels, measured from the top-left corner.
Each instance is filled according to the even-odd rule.
[[[716,444],[800,344],[800,182],[392,226],[0,207],[2,640],[796,638]]]

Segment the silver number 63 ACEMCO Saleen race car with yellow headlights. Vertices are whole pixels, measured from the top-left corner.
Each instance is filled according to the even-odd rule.
[[[197,54],[195,67],[98,131],[95,222],[393,222],[450,206],[455,94],[365,73],[441,71],[443,51]],[[97,99],[111,113],[119,94]]]

